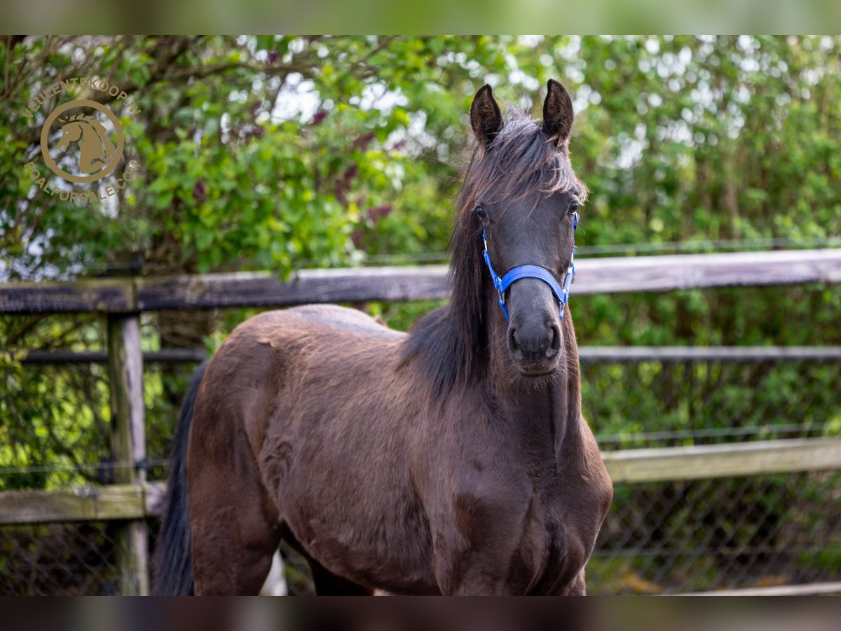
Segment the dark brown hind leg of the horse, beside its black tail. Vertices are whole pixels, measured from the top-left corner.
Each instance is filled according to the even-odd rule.
[[[256,595],[280,543],[278,509],[245,437],[198,404],[188,457],[195,593]]]

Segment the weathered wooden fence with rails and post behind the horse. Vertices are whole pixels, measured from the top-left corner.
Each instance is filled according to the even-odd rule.
[[[738,252],[581,259],[575,294],[669,291],[725,286],[841,282],[841,250]],[[111,448],[118,463],[145,460],[143,362],[196,361],[190,351],[140,350],[140,313],[152,310],[287,306],[368,300],[447,297],[447,268],[304,270],[281,282],[270,273],[171,278],[103,278],[68,283],[0,284],[0,314],[97,312],[107,319],[107,353],[15,352],[29,362],[108,363]],[[12,349],[0,349],[11,351]],[[587,357],[582,349],[582,359]],[[597,357],[639,359],[640,353],[676,357],[727,353],[721,349],[590,349]],[[757,353],[770,353],[759,350]],[[793,356],[841,357],[838,348],[791,349]],[[799,353],[799,355],[798,355]],[[627,360],[627,359],[626,359]],[[635,449],[605,453],[615,482],[688,480],[720,475],[841,468],[841,439],[808,438],[709,447]],[[146,517],[159,514],[163,486],[140,467],[115,469],[116,484],[55,491],[0,493],[0,524],[119,520],[117,564],[122,591],[146,594]]]

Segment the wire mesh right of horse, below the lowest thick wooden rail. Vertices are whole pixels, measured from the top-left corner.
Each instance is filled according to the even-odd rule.
[[[841,579],[841,471],[616,485],[590,593]]]

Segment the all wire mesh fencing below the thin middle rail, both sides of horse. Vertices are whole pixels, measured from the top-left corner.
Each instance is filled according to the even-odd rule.
[[[749,354],[749,353],[748,353]],[[188,365],[146,366],[151,480],[162,480]],[[10,372],[11,371],[11,372]],[[841,361],[582,351],[584,413],[603,450],[841,435]],[[6,369],[0,490],[105,484],[103,367]],[[14,379],[40,384],[16,397]],[[70,401],[71,403],[68,403]],[[841,580],[841,471],[616,485],[590,593],[666,593]],[[2,522],[0,516],[0,522]],[[154,549],[156,520],[150,520]],[[0,594],[119,593],[114,524],[0,526]],[[288,586],[311,585],[285,552]]]

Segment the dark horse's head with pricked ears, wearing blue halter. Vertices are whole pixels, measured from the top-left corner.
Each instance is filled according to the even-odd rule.
[[[563,355],[574,228],[586,196],[569,162],[572,100],[550,81],[542,125],[524,114],[503,120],[484,86],[473,98],[470,122],[478,146],[461,219],[472,225],[474,247],[484,257],[484,292],[499,298],[490,325],[507,326],[508,352],[521,374],[549,374]]]

